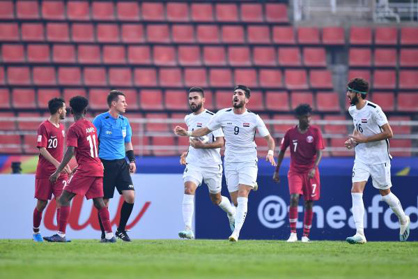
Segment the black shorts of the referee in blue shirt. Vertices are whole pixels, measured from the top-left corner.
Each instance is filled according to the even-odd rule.
[[[119,195],[123,190],[134,190],[134,183],[129,172],[129,165],[125,158],[120,160],[102,160],[104,166],[103,192],[104,199],[111,199],[118,189]]]

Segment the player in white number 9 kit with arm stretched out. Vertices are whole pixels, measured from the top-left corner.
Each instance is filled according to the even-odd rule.
[[[222,128],[226,140],[225,177],[231,199],[237,206],[235,228],[229,241],[238,241],[240,230],[247,216],[249,192],[254,188],[257,179],[257,150],[254,137],[256,130],[268,142],[268,155],[265,160],[276,166],[274,161],[274,140],[263,120],[258,114],[247,110],[250,90],[245,85],[235,86],[232,101],[233,107],[220,110],[212,118],[207,127],[194,131],[186,131],[177,126],[176,135],[203,137],[214,130]]]

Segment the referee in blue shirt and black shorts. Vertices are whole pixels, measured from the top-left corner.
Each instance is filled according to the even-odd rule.
[[[125,95],[121,91],[112,90],[107,96],[109,111],[99,114],[93,120],[97,129],[99,139],[99,158],[104,166],[103,190],[104,204],[109,206],[109,199],[114,195],[115,187],[120,195],[123,195],[121,218],[116,236],[123,241],[130,241],[126,233],[125,226],[134,208],[135,191],[130,173],[137,170],[135,165],[134,151],[131,137],[132,129],[125,116],[121,114],[126,111]],[[125,159],[129,159],[129,165]],[[104,239],[104,228],[102,229],[102,239]]]

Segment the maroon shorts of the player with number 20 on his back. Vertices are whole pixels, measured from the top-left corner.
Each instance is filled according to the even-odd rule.
[[[55,183],[51,183],[49,178],[36,178],[35,179],[35,197],[36,199],[48,200],[52,198],[54,194],[55,198],[58,198],[63,193],[63,188],[68,179],[67,174],[61,174]]]

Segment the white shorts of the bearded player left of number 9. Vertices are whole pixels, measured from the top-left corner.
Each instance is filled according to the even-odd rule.
[[[209,192],[217,194],[222,190],[222,165],[197,167],[187,164],[183,172],[183,181],[192,181],[196,186],[200,186],[202,181],[205,181]]]

